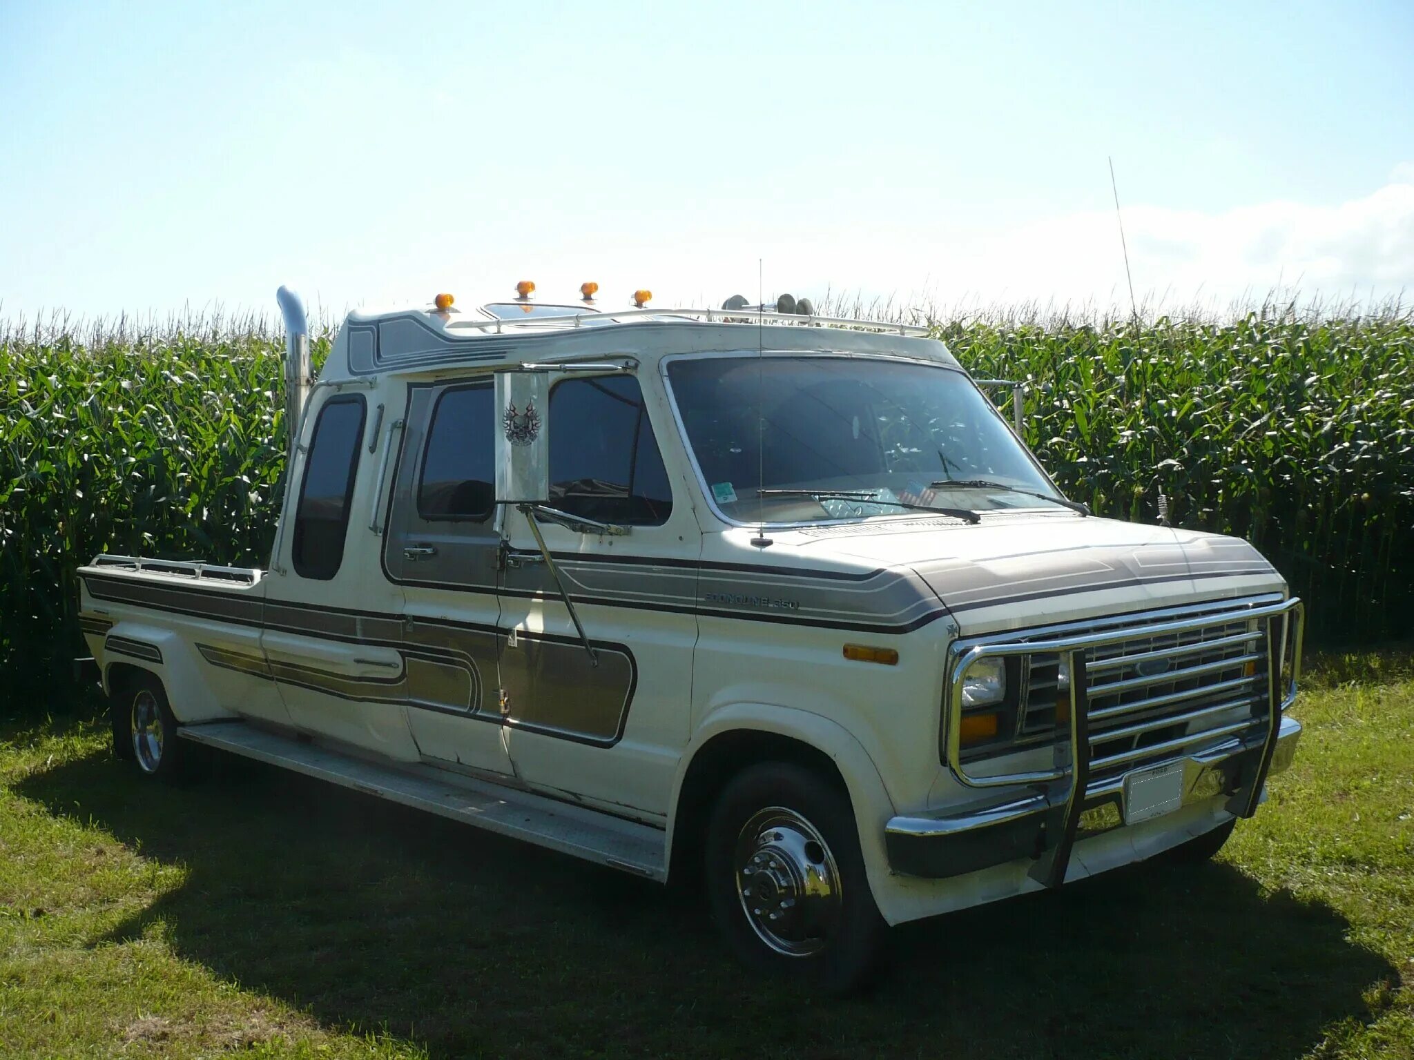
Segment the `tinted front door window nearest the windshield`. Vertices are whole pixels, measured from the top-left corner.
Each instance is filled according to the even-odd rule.
[[[601,523],[667,522],[673,492],[632,376],[568,379],[550,391],[550,505]]]

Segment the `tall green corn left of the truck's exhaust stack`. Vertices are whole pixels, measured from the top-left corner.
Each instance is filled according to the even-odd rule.
[[[0,695],[69,673],[74,572],[98,553],[264,565],[284,447],[260,331],[0,335]]]

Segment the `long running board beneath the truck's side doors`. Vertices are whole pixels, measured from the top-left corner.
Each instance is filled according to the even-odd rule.
[[[182,725],[177,735],[392,803],[474,824],[649,879],[667,879],[666,834],[646,824],[474,780],[436,766],[379,765],[245,722]]]

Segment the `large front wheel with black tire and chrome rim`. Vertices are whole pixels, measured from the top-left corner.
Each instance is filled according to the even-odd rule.
[[[874,905],[848,797],[819,775],[769,762],[737,775],[707,825],[713,917],[747,965],[829,994],[878,968]]]

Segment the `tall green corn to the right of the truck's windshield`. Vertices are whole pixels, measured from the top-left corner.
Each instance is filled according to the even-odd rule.
[[[1025,380],[1027,442],[1099,513],[1253,541],[1316,642],[1407,636],[1414,612],[1414,321],[943,326],[981,375]]]

